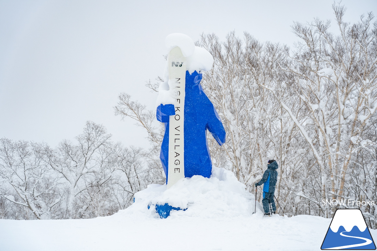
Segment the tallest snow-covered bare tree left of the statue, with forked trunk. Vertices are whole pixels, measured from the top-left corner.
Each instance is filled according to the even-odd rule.
[[[104,167],[109,153],[110,134],[102,125],[88,121],[84,132],[76,137],[78,144],[62,141],[57,149],[47,151],[46,161],[65,180],[66,199],[61,207],[64,218],[77,218],[91,205],[90,190],[101,187],[111,177]],[[85,199],[80,197],[83,196]]]

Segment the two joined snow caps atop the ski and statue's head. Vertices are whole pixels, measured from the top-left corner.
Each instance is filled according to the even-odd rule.
[[[206,49],[195,46],[194,41],[182,33],[173,33],[165,39],[166,48],[170,51],[179,47],[184,57],[187,58],[186,69],[190,74],[199,71],[209,71],[213,66],[213,57]]]

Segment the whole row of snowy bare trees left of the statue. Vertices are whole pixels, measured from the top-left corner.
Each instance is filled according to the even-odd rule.
[[[77,143],[0,141],[0,218],[93,218],[116,213],[153,183],[143,149],[110,141],[88,121]],[[161,171],[160,171],[161,172]]]

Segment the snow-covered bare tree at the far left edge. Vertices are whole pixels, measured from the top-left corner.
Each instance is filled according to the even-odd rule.
[[[58,177],[43,161],[41,149],[45,145],[25,141],[0,139],[0,197],[2,204],[9,202],[28,208],[28,219],[55,218],[57,205],[62,200],[57,189]],[[6,199],[6,200],[4,200]],[[16,214],[17,209],[13,214]],[[31,213],[31,214],[30,214]],[[8,212],[8,215],[10,213]],[[17,216],[11,216],[15,217]]]

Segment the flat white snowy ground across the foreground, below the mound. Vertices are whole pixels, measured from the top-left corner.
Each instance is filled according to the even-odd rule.
[[[0,220],[1,251],[320,250],[331,219],[138,219],[121,211],[87,220]],[[374,240],[377,231],[371,230]]]

